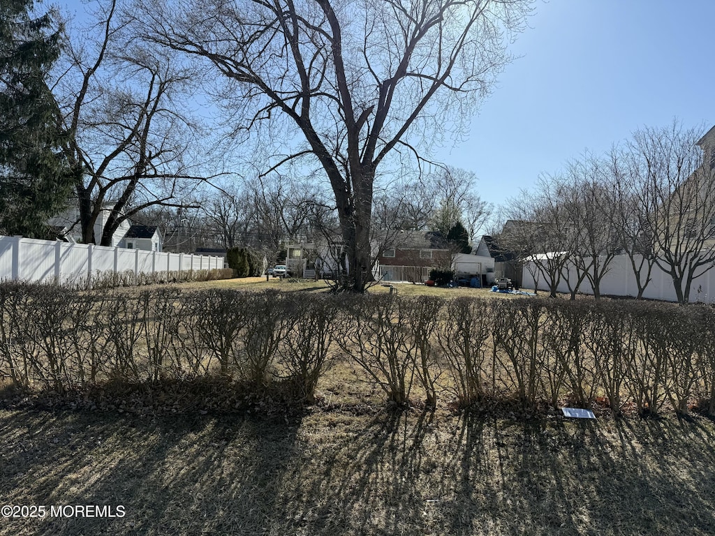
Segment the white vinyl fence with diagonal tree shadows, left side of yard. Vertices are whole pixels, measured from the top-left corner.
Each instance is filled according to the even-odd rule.
[[[109,272],[159,274],[221,269],[223,257],[142,249],[68,244],[0,235],[0,280],[57,282],[84,286],[92,276]]]

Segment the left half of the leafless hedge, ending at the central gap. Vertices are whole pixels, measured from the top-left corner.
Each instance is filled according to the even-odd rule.
[[[271,382],[312,400],[331,357],[335,299],[167,286],[74,292],[0,285],[0,378],[58,393],[229,377],[249,392]]]

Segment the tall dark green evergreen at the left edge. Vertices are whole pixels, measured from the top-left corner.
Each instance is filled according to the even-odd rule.
[[[39,237],[66,205],[71,174],[65,133],[46,84],[61,28],[33,0],[0,1],[0,232]]]

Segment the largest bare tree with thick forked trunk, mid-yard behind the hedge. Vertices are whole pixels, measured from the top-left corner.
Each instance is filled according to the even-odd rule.
[[[209,0],[144,2],[149,39],[215,66],[248,113],[299,131],[332,192],[350,277],[371,276],[378,168],[488,94],[529,0]],[[505,36],[506,32],[506,36]],[[445,112],[450,111],[450,121]],[[455,124],[456,123],[456,124]],[[286,126],[290,125],[290,126]],[[280,164],[280,162],[279,162]]]

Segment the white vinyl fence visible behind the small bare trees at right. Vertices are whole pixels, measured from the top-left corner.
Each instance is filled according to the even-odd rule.
[[[636,257],[637,259],[637,257]],[[534,284],[532,272],[536,273],[538,279],[538,290],[548,291],[548,281],[543,275],[538,273],[538,270],[533,266],[533,262],[526,262],[523,267],[521,287],[527,289],[537,288]],[[531,265],[531,266],[530,266]],[[529,269],[531,267],[531,270]],[[643,278],[646,270],[643,271]],[[568,274],[563,272],[564,276],[570,278],[572,282],[578,280],[576,268],[570,265]],[[568,293],[566,279],[561,277],[561,282],[558,284],[558,292]],[[593,288],[584,279],[578,292],[583,294],[593,294]],[[610,296],[636,297],[638,295],[638,285],[636,284],[636,276],[631,268],[631,261],[627,255],[618,255],[613,257],[611,264],[608,265],[608,273],[601,279],[601,294]],[[651,281],[646,285],[643,297],[646,299],[662,299],[666,302],[677,302],[678,299],[675,293],[673,279],[669,274],[663,272],[658,265],[654,265],[651,272]],[[693,279],[690,290],[690,302],[699,303],[715,303],[715,269],[702,274],[700,277]]]

